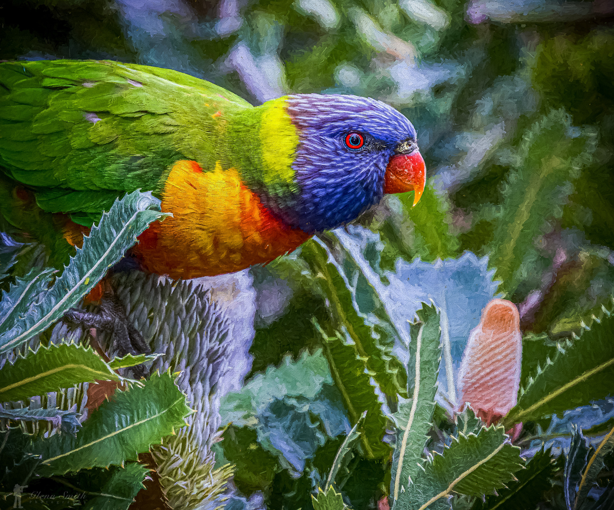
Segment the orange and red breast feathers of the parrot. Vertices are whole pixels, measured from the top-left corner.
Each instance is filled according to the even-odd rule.
[[[163,191],[162,211],[133,249],[144,269],[189,279],[234,272],[270,262],[311,236],[273,217],[236,169],[203,172],[178,161]]]

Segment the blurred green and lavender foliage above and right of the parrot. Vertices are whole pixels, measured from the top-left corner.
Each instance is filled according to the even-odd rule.
[[[418,207],[388,197],[360,219],[381,234],[384,266],[489,255],[524,329],[556,336],[614,284],[613,12],[605,0],[9,0],[0,59],[172,68],[253,104],[381,99],[416,126],[430,177]]]

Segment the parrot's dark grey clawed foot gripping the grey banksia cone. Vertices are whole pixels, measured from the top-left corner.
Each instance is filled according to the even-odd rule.
[[[98,312],[85,312],[71,308],[66,312],[65,317],[71,322],[83,324],[88,328],[111,333],[111,346],[107,350],[117,350],[120,356],[151,352],[142,334],[134,328],[126,316],[122,303],[108,282],[104,285]],[[148,375],[148,370],[144,365],[134,366],[133,372],[137,377]]]

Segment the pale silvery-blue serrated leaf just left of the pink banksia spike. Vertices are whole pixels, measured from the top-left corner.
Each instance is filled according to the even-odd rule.
[[[488,269],[488,257],[478,258],[468,252],[457,259],[434,263],[419,259],[407,263],[398,259],[394,272],[383,271],[380,275],[362,255],[378,244],[379,237],[357,226],[349,225],[346,230],[335,230],[335,236],[360,266],[395,324],[399,335],[394,353],[403,363],[408,363],[408,319],[413,319],[422,303],[430,300],[440,309],[443,363],[438,377],[437,403],[452,414],[457,405],[454,378],[469,333],[480,322],[484,306],[499,296],[499,282],[492,281],[495,270]],[[383,283],[382,277],[390,282],[389,285]],[[459,314],[458,310],[464,313]],[[408,377],[411,379],[411,374]]]

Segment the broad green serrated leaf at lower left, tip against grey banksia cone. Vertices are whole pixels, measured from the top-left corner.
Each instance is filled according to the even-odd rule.
[[[28,453],[41,455],[39,474],[122,465],[184,427],[190,409],[170,373],[154,375],[128,391],[116,391],[84,422],[76,437],[54,435],[32,444]]]

